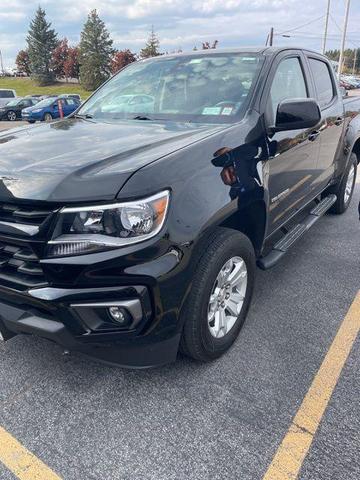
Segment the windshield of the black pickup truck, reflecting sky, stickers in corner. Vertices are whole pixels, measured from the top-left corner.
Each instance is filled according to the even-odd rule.
[[[79,110],[98,120],[232,123],[243,115],[263,57],[212,53],[136,62]]]

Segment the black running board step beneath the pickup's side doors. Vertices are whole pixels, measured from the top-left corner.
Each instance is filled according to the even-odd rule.
[[[336,195],[329,195],[319,202],[301,222],[292,227],[286,235],[273,246],[266,257],[259,258],[258,267],[262,270],[268,270],[277,264],[286,252],[294,245],[322,217],[329,208],[336,202]]]

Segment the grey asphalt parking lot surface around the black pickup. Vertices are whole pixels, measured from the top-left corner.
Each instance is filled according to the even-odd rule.
[[[359,179],[345,215],[325,216],[282,263],[258,271],[248,320],[215,363],[179,357],[129,371],[36,338],[1,344],[1,480],[264,478],[360,290]],[[357,339],[301,480],[360,478],[359,353]],[[29,473],[32,458],[3,432],[47,473]],[[6,468],[5,457],[18,468]]]

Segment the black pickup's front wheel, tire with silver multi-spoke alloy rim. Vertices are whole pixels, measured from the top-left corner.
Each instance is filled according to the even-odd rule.
[[[181,351],[208,362],[234,343],[249,310],[255,281],[255,253],[250,240],[218,228],[202,249],[191,292],[182,311]]]

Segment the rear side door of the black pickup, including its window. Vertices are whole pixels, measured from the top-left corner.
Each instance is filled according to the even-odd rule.
[[[344,106],[331,66],[323,57],[315,54],[308,54],[307,61],[321,109],[318,175],[312,185],[316,193],[326,187],[335,172],[337,150],[344,126]]]

